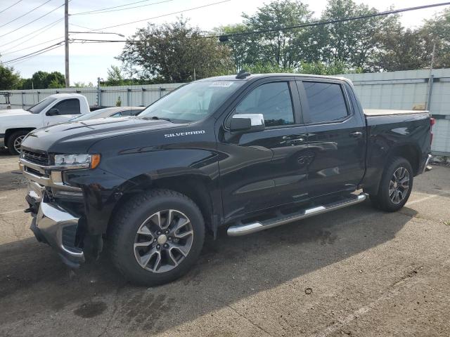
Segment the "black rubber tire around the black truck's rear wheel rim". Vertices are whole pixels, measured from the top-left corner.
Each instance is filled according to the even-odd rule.
[[[394,173],[399,174],[398,172],[401,172],[401,168],[404,168],[407,171],[409,180],[408,180],[408,190],[404,190],[404,192],[399,193],[401,197],[398,197],[398,199],[395,198],[395,192],[392,194],[390,193],[390,186],[392,187],[391,180],[395,180]],[[400,170],[400,171],[398,171]],[[405,172],[405,171],[403,171]],[[403,176],[405,179],[406,173],[404,173]],[[396,180],[397,181],[397,180]],[[399,183],[397,183],[399,185]],[[397,185],[394,185],[397,188]],[[402,187],[400,187],[402,188]],[[411,190],[413,188],[413,169],[411,167],[411,164],[407,159],[404,159],[402,157],[392,157],[388,159],[385,171],[383,171],[383,176],[381,176],[380,180],[380,187],[378,188],[378,194],[371,194],[371,203],[375,208],[381,209],[383,211],[387,212],[394,212],[401,209],[401,207],[406,204],[406,201],[409,199],[409,195],[411,194]],[[394,190],[394,189],[392,189]],[[391,191],[392,191],[391,190]],[[392,199],[394,198],[394,200]],[[401,199],[400,199],[401,198]]]

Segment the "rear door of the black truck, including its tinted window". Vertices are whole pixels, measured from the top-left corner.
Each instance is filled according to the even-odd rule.
[[[297,81],[308,133],[309,197],[355,190],[365,170],[365,123],[349,85],[330,79]]]

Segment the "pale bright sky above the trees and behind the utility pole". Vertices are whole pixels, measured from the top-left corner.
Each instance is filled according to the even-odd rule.
[[[22,0],[19,4],[12,6],[4,11],[5,8],[11,6],[18,0],[0,0],[0,61],[7,62],[19,58],[20,56],[39,51],[57,44],[64,37],[64,6],[61,6],[63,0]],[[103,29],[101,32],[115,34],[79,34],[71,33],[72,39],[124,39],[117,34],[125,37],[136,32],[139,27],[145,27],[146,22],[162,24],[176,20],[181,14],[184,18],[190,19],[191,25],[198,26],[200,29],[208,31],[220,25],[229,25],[242,21],[241,14],[252,14],[257,11],[258,7],[270,1],[264,0],[149,0],[141,1],[139,4],[130,6],[141,6],[139,8],[131,8],[124,11],[110,11],[109,13],[92,13],[79,14],[86,11],[95,11],[101,8],[110,8],[113,6],[121,6],[125,4],[135,3],[139,0],[71,0],[69,3],[69,31],[70,32],[86,32],[89,29],[98,29],[102,27],[110,27],[120,25],[126,22],[143,20],[141,22],[122,25],[120,27],[112,27]],[[219,1],[220,4],[214,4]],[[408,8],[413,6],[421,6],[425,4],[435,4],[444,2],[443,0],[354,0],[357,4],[367,4],[375,7],[379,11],[385,11],[394,6],[394,8]],[[326,7],[326,0],[303,0],[304,4],[314,11],[314,16],[319,17],[320,13]],[[44,4],[46,3],[46,4]],[[186,11],[189,8],[206,6],[204,8]],[[33,8],[38,7],[31,13]],[[146,6],[142,6],[146,5]],[[58,6],[61,6],[58,8]],[[57,8],[52,13],[53,9]],[[122,9],[120,7],[115,9]],[[420,11],[411,11],[401,14],[401,23],[405,27],[416,27],[421,25],[424,19],[432,18],[435,13],[442,11],[445,7],[430,8]],[[181,12],[172,15],[166,15],[174,12]],[[49,13],[48,15],[45,15]],[[22,18],[19,18],[23,15]],[[43,18],[39,18],[45,15]],[[162,18],[155,18],[165,15]],[[17,20],[15,20],[18,18]],[[37,20],[36,20],[37,19]],[[10,22],[12,21],[13,22]],[[32,22],[35,20],[34,22]],[[60,20],[60,21],[58,21]],[[58,22],[57,22],[58,21]],[[28,22],[30,25],[26,25]],[[54,25],[51,25],[56,22]],[[25,27],[20,28],[21,26]],[[49,27],[46,27],[49,25]],[[82,26],[82,27],[80,27]],[[44,29],[39,30],[43,27]],[[19,29],[18,29],[19,28]],[[17,29],[15,32],[13,30]],[[39,34],[41,33],[41,34]],[[53,41],[50,41],[53,40]],[[38,45],[39,44],[39,45]],[[38,45],[38,46],[37,46]],[[106,79],[107,70],[110,65],[120,65],[120,61],[115,59],[122,51],[124,43],[115,44],[70,44],[70,83],[89,82],[96,84],[97,78]],[[15,70],[20,72],[24,78],[31,77],[38,70],[52,72],[58,71],[64,74],[64,47],[60,46],[54,50],[42,53],[41,55],[28,58],[26,60],[18,60],[16,62],[8,62],[6,65],[12,65]]]

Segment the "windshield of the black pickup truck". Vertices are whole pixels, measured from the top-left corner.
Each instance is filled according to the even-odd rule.
[[[244,81],[199,81],[165,95],[141,112],[139,118],[198,121],[212,114]]]

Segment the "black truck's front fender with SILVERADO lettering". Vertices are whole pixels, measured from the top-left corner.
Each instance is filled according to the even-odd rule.
[[[105,232],[110,214],[120,206],[123,194],[145,190],[161,179],[200,179],[210,194],[213,209],[221,211],[213,128],[197,125],[117,136],[98,141],[89,153],[101,154],[98,168],[85,175],[72,173],[68,180],[84,190],[91,233]]]

